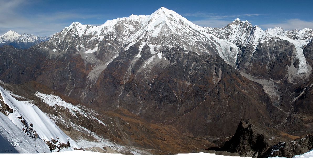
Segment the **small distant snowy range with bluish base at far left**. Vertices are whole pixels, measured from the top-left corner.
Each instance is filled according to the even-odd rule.
[[[0,47],[3,45],[13,45],[16,48],[29,48],[33,45],[36,45],[40,42],[47,41],[49,39],[48,36],[46,37],[37,37],[33,34],[23,33],[22,35],[8,31],[0,36]]]

